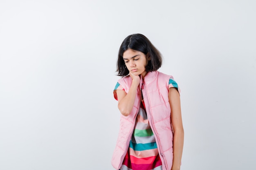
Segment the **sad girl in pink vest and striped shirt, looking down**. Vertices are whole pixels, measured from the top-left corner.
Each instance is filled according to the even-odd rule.
[[[184,130],[180,88],[161,73],[161,53],[144,35],[122,42],[114,90],[121,112],[112,157],[117,170],[180,170]]]

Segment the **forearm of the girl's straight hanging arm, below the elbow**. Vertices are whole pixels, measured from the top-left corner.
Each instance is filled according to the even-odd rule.
[[[179,129],[174,132],[173,139],[173,166],[171,170],[180,170],[182,151],[184,143],[184,130]]]

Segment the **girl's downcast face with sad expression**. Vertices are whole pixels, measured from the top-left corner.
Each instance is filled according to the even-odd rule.
[[[124,52],[123,59],[130,73],[141,75],[142,77],[147,74],[145,66],[148,64],[148,60],[150,60],[149,55],[128,49]]]

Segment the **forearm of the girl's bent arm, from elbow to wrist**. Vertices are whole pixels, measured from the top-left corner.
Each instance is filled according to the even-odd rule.
[[[122,115],[128,116],[130,112],[132,111],[132,107],[134,105],[135,96],[137,92],[138,83],[132,81],[132,85],[129,89],[129,92],[127,95],[121,99],[118,103],[118,108]]]

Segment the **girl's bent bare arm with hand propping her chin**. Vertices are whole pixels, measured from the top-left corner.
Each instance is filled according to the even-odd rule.
[[[130,115],[130,112],[132,111],[132,106],[134,104],[137,88],[140,82],[140,77],[138,75],[135,76],[130,73],[130,77],[132,78],[132,85],[129,92],[126,93],[123,90],[117,90],[118,108],[124,116]]]

